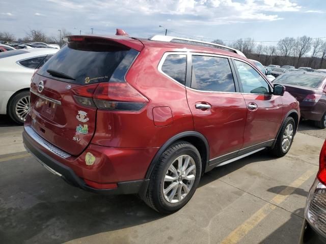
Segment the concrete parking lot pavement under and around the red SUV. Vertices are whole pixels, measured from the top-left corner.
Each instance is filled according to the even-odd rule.
[[[297,243],[325,135],[304,121],[284,158],[261,151],[215,168],[164,216],[137,196],[69,186],[26,153],[21,126],[0,121],[1,243]]]

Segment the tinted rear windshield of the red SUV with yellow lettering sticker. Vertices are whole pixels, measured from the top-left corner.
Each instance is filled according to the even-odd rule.
[[[105,82],[111,77],[111,80],[123,82],[137,54],[134,49],[112,43],[70,42],[53,55],[38,74],[75,84]]]

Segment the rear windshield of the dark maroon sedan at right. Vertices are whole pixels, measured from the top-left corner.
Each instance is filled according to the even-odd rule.
[[[324,76],[310,74],[283,74],[276,78],[273,83],[284,83],[292,85],[303,85],[309,87],[318,87],[325,79]]]

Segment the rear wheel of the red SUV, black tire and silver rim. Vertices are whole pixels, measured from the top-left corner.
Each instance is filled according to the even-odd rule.
[[[196,191],[201,167],[199,151],[193,144],[179,141],[171,145],[151,173],[146,204],[162,214],[182,208]]]

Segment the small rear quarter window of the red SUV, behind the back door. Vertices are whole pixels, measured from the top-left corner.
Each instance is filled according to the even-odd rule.
[[[186,55],[170,54],[164,60],[162,71],[184,85],[186,63]]]

